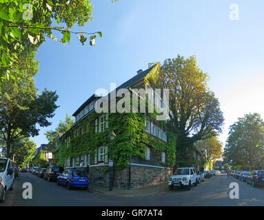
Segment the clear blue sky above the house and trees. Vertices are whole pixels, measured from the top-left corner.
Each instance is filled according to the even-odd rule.
[[[110,90],[147,69],[148,63],[196,55],[210,75],[209,86],[225,116],[220,136],[245,113],[264,118],[264,1],[238,0],[94,0],[93,21],[73,30],[103,32],[94,47],[47,41],[39,48],[36,86],[56,90],[60,107],[52,126],[41,128],[32,140],[47,143],[45,131],[55,129],[66,113],[72,115],[94,91]],[[230,5],[239,6],[239,20],[230,20]]]

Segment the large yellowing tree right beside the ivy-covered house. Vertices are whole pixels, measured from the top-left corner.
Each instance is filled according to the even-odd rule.
[[[168,125],[176,135],[176,161],[186,166],[192,164],[189,160],[195,142],[221,132],[223,113],[195,56],[165,60],[161,78],[164,87],[170,89]]]

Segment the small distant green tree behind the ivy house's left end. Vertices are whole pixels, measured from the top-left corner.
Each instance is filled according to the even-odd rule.
[[[66,114],[65,120],[64,121],[60,120],[60,123],[55,129],[55,131],[50,130],[45,133],[48,141],[50,142],[49,145],[54,146],[54,144],[57,141],[57,136],[59,135],[59,133],[65,133],[72,127],[73,124],[74,124],[74,118]]]

